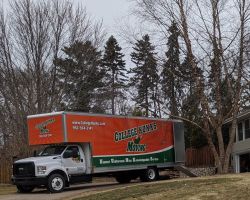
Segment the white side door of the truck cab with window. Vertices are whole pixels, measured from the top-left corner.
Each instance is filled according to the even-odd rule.
[[[69,175],[80,175],[86,171],[83,151],[77,145],[68,146],[63,153],[63,166]]]

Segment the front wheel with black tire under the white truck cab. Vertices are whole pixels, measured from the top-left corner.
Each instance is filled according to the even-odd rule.
[[[48,191],[51,193],[62,192],[65,187],[65,178],[60,174],[52,174],[48,178]]]

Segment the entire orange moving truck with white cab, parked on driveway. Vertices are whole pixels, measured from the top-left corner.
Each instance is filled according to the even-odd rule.
[[[20,192],[46,186],[61,192],[93,175],[112,175],[120,183],[185,160],[183,122],[143,117],[56,112],[28,116],[30,145],[46,145],[35,157],[13,164],[13,183]]]

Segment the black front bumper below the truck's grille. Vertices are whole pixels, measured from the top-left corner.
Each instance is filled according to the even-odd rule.
[[[32,185],[41,186],[47,185],[46,177],[12,177],[11,181],[14,185]]]

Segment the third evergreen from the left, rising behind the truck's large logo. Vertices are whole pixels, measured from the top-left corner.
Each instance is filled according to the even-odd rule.
[[[155,100],[155,91],[159,79],[155,47],[151,44],[149,36],[145,35],[142,40],[137,40],[133,50],[131,60],[136,67],[131,69],[133,77],[130,79],[130,84],[137,91],[133,100],[145,109],[145,115],[148,116],[152,103],[150,100]]]

